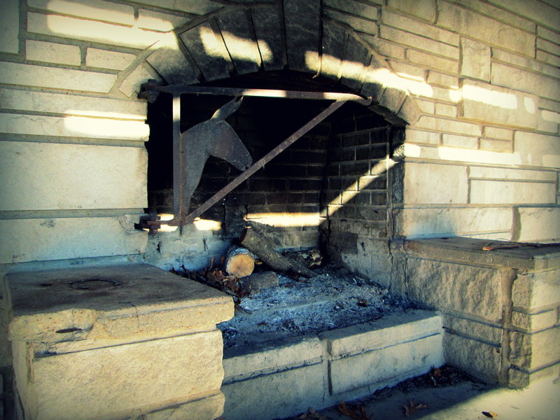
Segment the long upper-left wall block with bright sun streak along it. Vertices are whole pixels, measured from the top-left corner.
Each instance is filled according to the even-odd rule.
[[[48,3],[62,2],[49,1]],[[100,11],[104,13],[103,10]],[[123,45],[130,48],[148,48],[162,38],[161,32],[146,31],[139,27],[32,12],[27,13],[27,31],[34,34],[80,39],[81,41],[109,45]]]

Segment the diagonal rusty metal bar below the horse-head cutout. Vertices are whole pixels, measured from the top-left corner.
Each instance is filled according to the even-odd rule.
[[[311,128],[315,127],[318,123],[321,123],[321,121],[323,121],[325,118],[330,116],[330,114],[332,114],[337,109],[339,109],[342,105],[344,105],[345,102],[346,101],[340,100],[340,101],[336,101],[336,102],[333,102],[332,104],[330,104],[330,106],[328,106],[327,109],[325,109],[324,111],[319,113],[316,117],[314,117],[312,120],[310,120],[307,124],[305,124],[299,130],[294,132],[290,137],[288,137],[286,140],[284,140],[281,144],[279,144],[278,146],[273,148],[272,151],[269,151],[269,153],[267,153],[265,156],[260,158],[260,160],[255,162],[249,169],[247,169],[245,172],[243,172],[242,174],[237,176],[237,178],[235,178],[233,181],[228,183],[227,186],[225,186],[224,188],[219,190],[218,193],[214,194],[209,200],[207,200],[200,207],[195,209],[195,211],[193,211],[191,214],[189,214],[184,220],[181,220],[182,219],[181,218],[179,221],[177,221],[179,223],[177,223],[177,222],[176,223],[179,224],[179,225],[186,225],[188,223],[192,223],[195,220],[195,218],[199,217],[200,215],[202,215],[204,213],[204,211],[207,211],[210,207],[214,206],[214,204],[216,204],[218,201],[222,200],[223,197],[225,197],[225,195],[228,195],[228,193],[230,193],[232,190],[234,190],[243,181],[248,179],[249,176],[253,175],[260,168],[262,168],[268,162],[270,162],[270,160],[276,158],[277,155],[279,155],[280,153],[285,151],[286,148],[288,148],[288,146],[293,144],[294,141],[296,141],[297,139],[302,137],[309,130],[311,130]]]

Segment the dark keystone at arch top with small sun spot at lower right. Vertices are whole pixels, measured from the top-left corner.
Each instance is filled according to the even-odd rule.
[[[319,69],[318,45],[321,35],[321,2],[287,0],[283,2],[286,25],[286,51],[291,70]]]

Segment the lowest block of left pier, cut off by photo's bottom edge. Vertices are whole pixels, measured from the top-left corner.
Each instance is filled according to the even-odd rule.
[[[222,392],[211,395],[202,400],[186,402],[171,408],[158,409],[142,415],[144,420],[210,420],[217,419],[223,414],[225,395]],[[133,416],[128,420],[136,420]]]

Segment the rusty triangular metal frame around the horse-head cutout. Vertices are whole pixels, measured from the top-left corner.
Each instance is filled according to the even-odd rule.
[[[356,94],[339,93],[339,92],[302,92],[293,90],[267,90],[267,89],[240,89],[232,87],[200,87],[190,85],[167,85],[162,86],[153,83],[150,80],[141,86],[139,97],[154,102],[159,92],[172,94],[173,96],[173,202],[174,202],[174,218],[171,221],[150,221],[151,232],[161,225],[182,226],[195,221],[195,218],[201,216],[204,211],[219,202],[225,195],[239,186],[242,182],[255,174],[258,169],[262,168],[293,144],[297,139],[309,132],[318,123],[339,109],[344,103],[352,101],[362,105],[370,105],[371,98],[363,98]],[[215,94],[227,95],[232,97],[277,97],[283,99],[311,99],[311,100],[334,100],[328,108],[321,111],[316,117],[312,118],[307,124],[303,125],[299,130],[294,132],[290,137],[276,146],[272,151],[267,153],[258,162],[242,172],[237,178],[231,181],[227,186],[218,191],[209,200],[204,202],[200,207],[187,215],[190,205],[190,194],[187,193],[185,173],[186,168],[186,150],[184,142],[181,141],[181,94]],[[188,195],[188,197],[187,197]]]

